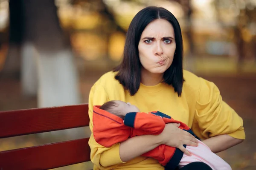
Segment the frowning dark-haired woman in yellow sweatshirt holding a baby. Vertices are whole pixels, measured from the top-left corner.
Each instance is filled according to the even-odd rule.
[[[93,105],[122,100],[140,111],[157,110],[184,122],[214,153],[241,143],[242,119],[212,82],[183,70],[182,59],[181,30],[172,13],[159,7],[138,12],[128,28],[122,63],[91,88],[90,130]],[[93,133],[89,140],[95,170],[163,170],[157,160],[140,156],[160,144],[186,155],[183,144],[197,146],[195,137],[175,124],[167,124],[160,135],[135,136],[109,148],[96,143]]]

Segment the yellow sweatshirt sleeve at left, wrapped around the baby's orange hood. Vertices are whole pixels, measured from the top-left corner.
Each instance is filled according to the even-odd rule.
[[[91,149],[90,159],[99,169],[113,169],[117,164],[124,163],[119,156],[119,144],[114,144],[111,147],[104,147],[98,144],[93,137],[93,105],[102,105],[109,101],[108,94],[104,87],[100,84],[94,84],[89,94],[89,117],[91,136],[89,146]]]

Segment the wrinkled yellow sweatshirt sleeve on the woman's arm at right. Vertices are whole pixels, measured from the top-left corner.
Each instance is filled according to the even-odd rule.
[[[195,106],[195,121],[201,138],[228,134],[236,139],[245,139],[243,120],[222,100],[217,86],[199,78],[200,88]]]

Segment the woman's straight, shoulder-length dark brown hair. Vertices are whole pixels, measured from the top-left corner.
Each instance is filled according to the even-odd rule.
[[[175,16],[165,8],[149,6],[139,11],[128,28],[125,40],[123,60],[119,66],[113,69],[118,71],[117,79],[131,96],[140,88],[141,63],[139,59],[138,45],[145,27],[156,19],[164,19],[172,24],[175,32],[175,56],[172,65],[165,71],[163,82],[172,85],[178,96],[181,95],[183,86],[183,41],[180,25]]]

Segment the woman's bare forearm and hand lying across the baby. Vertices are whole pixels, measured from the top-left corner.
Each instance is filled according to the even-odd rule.
[[[171,147],[177,147],[186,155],[190,153],[183,147],[183,144],[197,146],[198,141],[190,133],[178,128],[180,124],[166,124],[160,135],[135,136],[121,142],[119,147],[120,158],[123,162],[134,159],[160,144],[166,144]]]

